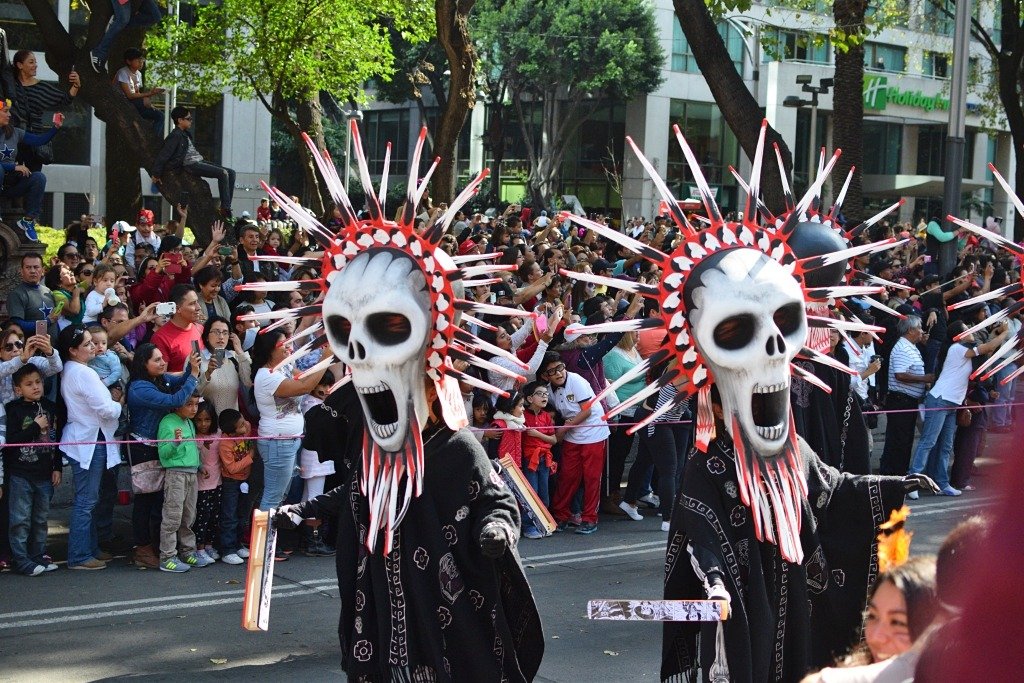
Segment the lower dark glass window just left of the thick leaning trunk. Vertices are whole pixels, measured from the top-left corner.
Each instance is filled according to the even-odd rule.
[[[739,165],[739,143],[718,106],[709,102],[673,99],[669,125],[678,125],[683,131],[705,177],[713,188],[718,189],[719,206],[735,209],[736,181],[729,173],[729,166]],[[690,187],[694,185],[693,175],[676,142],[675,133],[669,135],[666,181],[678,199],[689,197]]]

